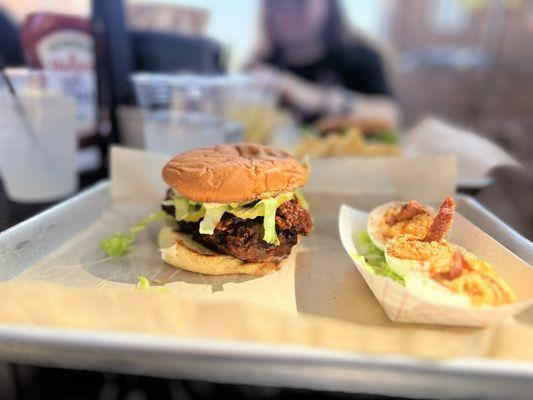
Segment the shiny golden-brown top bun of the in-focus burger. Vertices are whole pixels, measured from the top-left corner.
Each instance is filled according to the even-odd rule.
[[[294,190],[307,182],[308,168],[289,153],[240,143],[203,147],[172,158],[163,179],[187,199],[232,203]]]

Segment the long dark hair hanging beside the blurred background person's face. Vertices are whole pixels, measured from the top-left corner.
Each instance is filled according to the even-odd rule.
[[[343,10],[338,0],[323,0],[328,4],[328,15],[324,21],[322,37],[326,49],[330,52],[343,49],[352,37],[344,19]],[[263,0],[262,4],[262,40],[263,49],[259,59],[267,63],[283,64],[282,46],[276,43],[272,35],[271,23],[272,2]]]

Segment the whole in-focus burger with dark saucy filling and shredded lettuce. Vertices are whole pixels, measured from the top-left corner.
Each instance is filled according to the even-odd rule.
[[[169,185],[161,256],[210,275],[264,275],[280,268],[312,221],[298,188],[307,166],[257,144],[187,151],[163,168]]]

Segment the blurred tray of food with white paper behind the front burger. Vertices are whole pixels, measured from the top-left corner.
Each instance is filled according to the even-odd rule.
[[[400,134],[351,118],[319,120],[302,128],[280,129],[272,142],[296,157],[417,157],[451,154],[459,165],[458,187],[481,189],[493,183],[496,167],[521,167],[519,161],[484,137],[435,118]]]

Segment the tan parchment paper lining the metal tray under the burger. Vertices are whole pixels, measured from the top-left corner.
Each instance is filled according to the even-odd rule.
[[[35,265],[6,274],[2,324],[533,361],[533,313],[485,329],[392,322],[342,248],[341,204],[370,210],[415,198],[438,206],[455,188],[453,157],[313,160],[305,190],[313,234],[299,245],[293,270],[250,280],[212,279],[166,266],[157,257],[157,224],[128,256],[103,259],[99,239],[153,212],[166,189],[160,173],[168,157],[113,148],[111,159],[111,206]],[[471,250],[490,259],[491,248]],[[164,282],[170,293],[135,290],[139,274]]]

